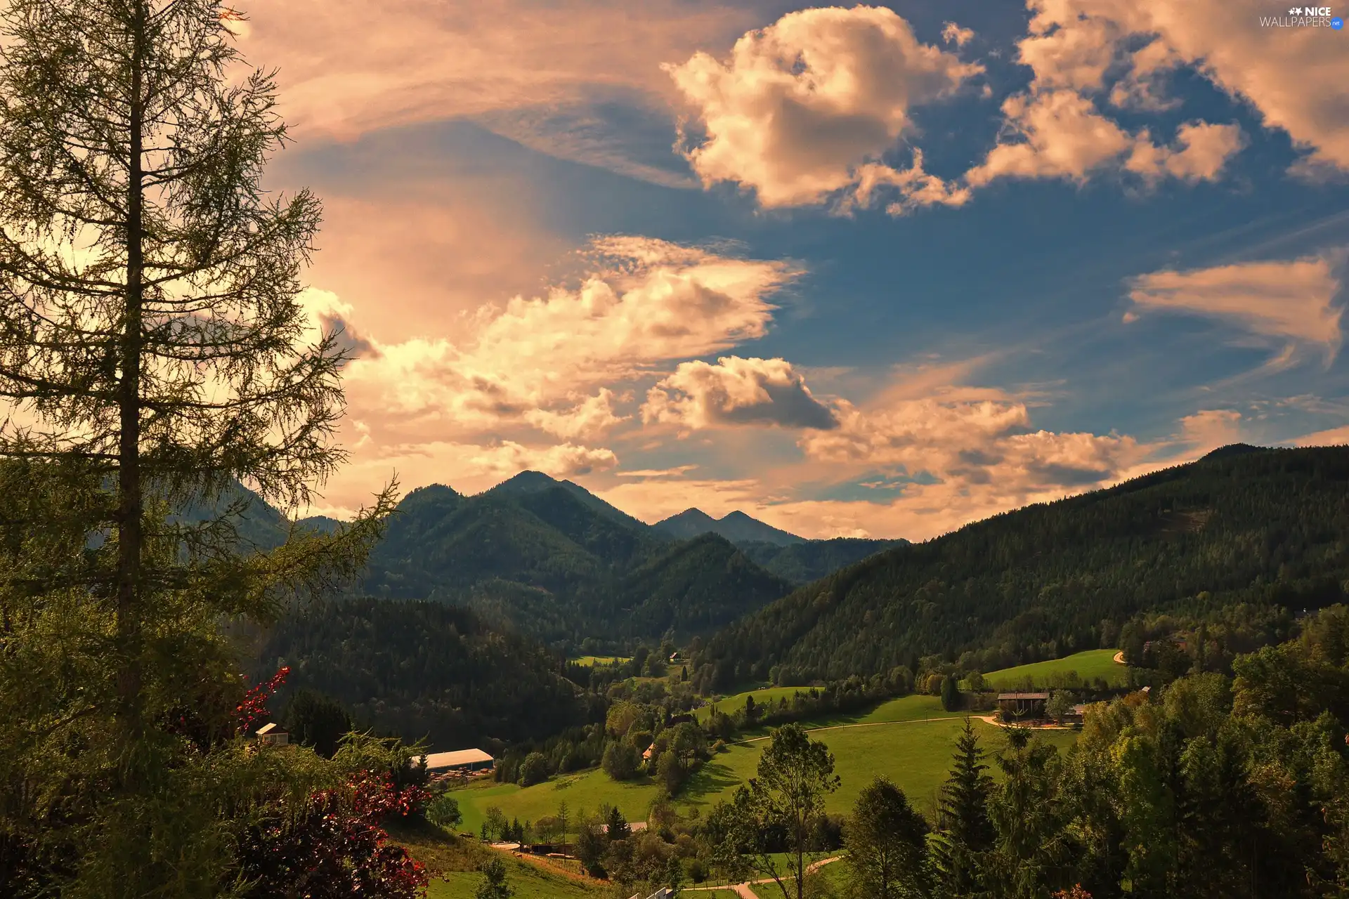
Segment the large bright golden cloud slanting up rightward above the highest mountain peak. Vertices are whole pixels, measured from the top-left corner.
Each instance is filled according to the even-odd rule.
[[[800,274],[782,261],[627,236],[592,240],[585,257],[590,272],[571,286],[463,317],[456,341],[375,340],[378,357],[347,367],[352,408],[383,442],[511,426],[594,438],[625,421],[611,385],[762,337],[772,294]],[[326,310],[337,301],[322,302]]]

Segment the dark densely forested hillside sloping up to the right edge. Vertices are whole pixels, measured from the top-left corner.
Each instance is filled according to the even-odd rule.
[[[719,632],[693,662],[722,685],[932,654],[969,652],[987,671],[1114,646],[1141,611],[1341,601],[1349,447],[1237,449],[871,557]]]

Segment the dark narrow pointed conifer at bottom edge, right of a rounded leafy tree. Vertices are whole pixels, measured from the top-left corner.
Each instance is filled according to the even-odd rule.
[[[996,833],[989,819],[993,778],[985,774],[983,748],[974,725],[955,741],[951,775],[942,787],[940,838],[934,845],[934,867],[943,895],[966,896],[979,886],[981,856],[993,848]]]

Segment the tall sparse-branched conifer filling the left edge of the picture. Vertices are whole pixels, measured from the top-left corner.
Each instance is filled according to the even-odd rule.
[[[328,776],[231,755],[243,685],[219,623],[355,571],[391,503],[237,551],[237,483],[291,507],[343,460],[344,353],[299,302],[318,202],[260,185],[286,129],[235,18],[0,12],[0,460],[24,493],[0,558],[0,814],[38,892],[217,895],[248,790]],[[188,504],[216,514],[170,515]]]

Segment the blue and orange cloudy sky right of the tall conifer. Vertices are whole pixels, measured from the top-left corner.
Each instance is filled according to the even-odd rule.
[[[1292,9],[1298,15],[1291,15]],[[1344,9],[254,0],[347,465],[927,539],[1349,442]]]

